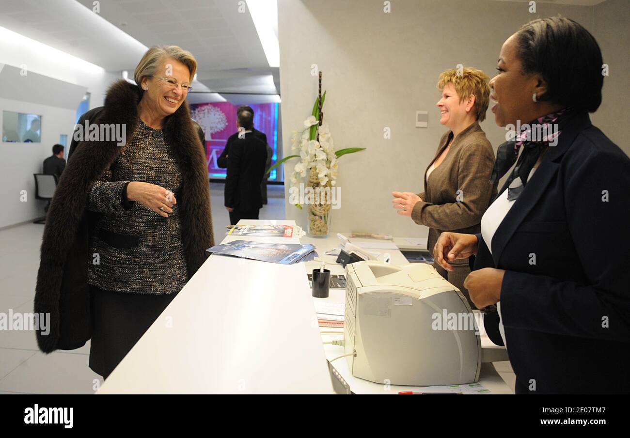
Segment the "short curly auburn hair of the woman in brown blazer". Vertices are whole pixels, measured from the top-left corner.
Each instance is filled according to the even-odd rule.
[[[490,103],[490,77],[483,71],[473,67],[464,67],[463,69],[449,69],[440,73],[440,79],[437,81],[437,88],[440,91],[448,83],[452,83],[462,102],[474,95],[474,110],[479,122],[483,122],[486,118],[488,103]]]

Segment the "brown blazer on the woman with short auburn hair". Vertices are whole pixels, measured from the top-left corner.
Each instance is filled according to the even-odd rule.
[[[427,170],[442,154],[452,135],[450,130],[442,135]],[[411,219],[429,227],[429,251],[433,251],[442,231],[481,232],[481,216],[496,196],[496,183],[490,185],[494,165],[492,145],[479,123],[474,122],[457,135],[444,161],[433,169],[428,181],[425,170],[425,191],[418,193],[422,202],[413,207]]]

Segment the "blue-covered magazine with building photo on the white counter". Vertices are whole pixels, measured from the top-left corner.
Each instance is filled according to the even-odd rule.
[[[302,258],[315,250],[313,245],[302,245],[300,243],[267,243],[252,242],[248,240],[234,240],[222,245],[215,245],[206,251],[215,254],[232,255],[237,257],[251,258],[261,262],[280,263],[282,265],[292,265],[300,262]]]

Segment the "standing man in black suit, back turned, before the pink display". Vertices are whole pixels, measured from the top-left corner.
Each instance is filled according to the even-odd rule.
[[[263,137],[253,132],[253,111],[239,108],[236,124],[239,131],[235,138],[230,137],[226,153],[225,206],[232,225],[241,219],[258,219],[263,206],[260,185],[267,159],[266,136],[263,141]]]

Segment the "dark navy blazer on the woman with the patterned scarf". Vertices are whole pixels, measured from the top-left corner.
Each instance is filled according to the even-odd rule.
[[[586,112],[560,129],[492,253],[478,234],[474,269],[506,271],[517,393],[630,393],[630,159]],[[503,345],[498,321],[488,314],[484,326]]]

